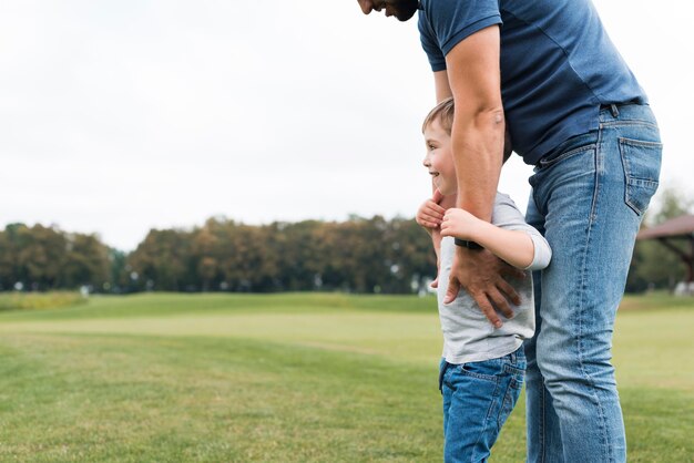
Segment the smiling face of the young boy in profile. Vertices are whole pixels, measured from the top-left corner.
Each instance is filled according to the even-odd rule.
[[[453,150],[450,135],[441,127],[439,120],[433,120],[425,128],[427,156],[425,167],[433,177],[433,184],[442,195],[452,195],[458,191]]]

